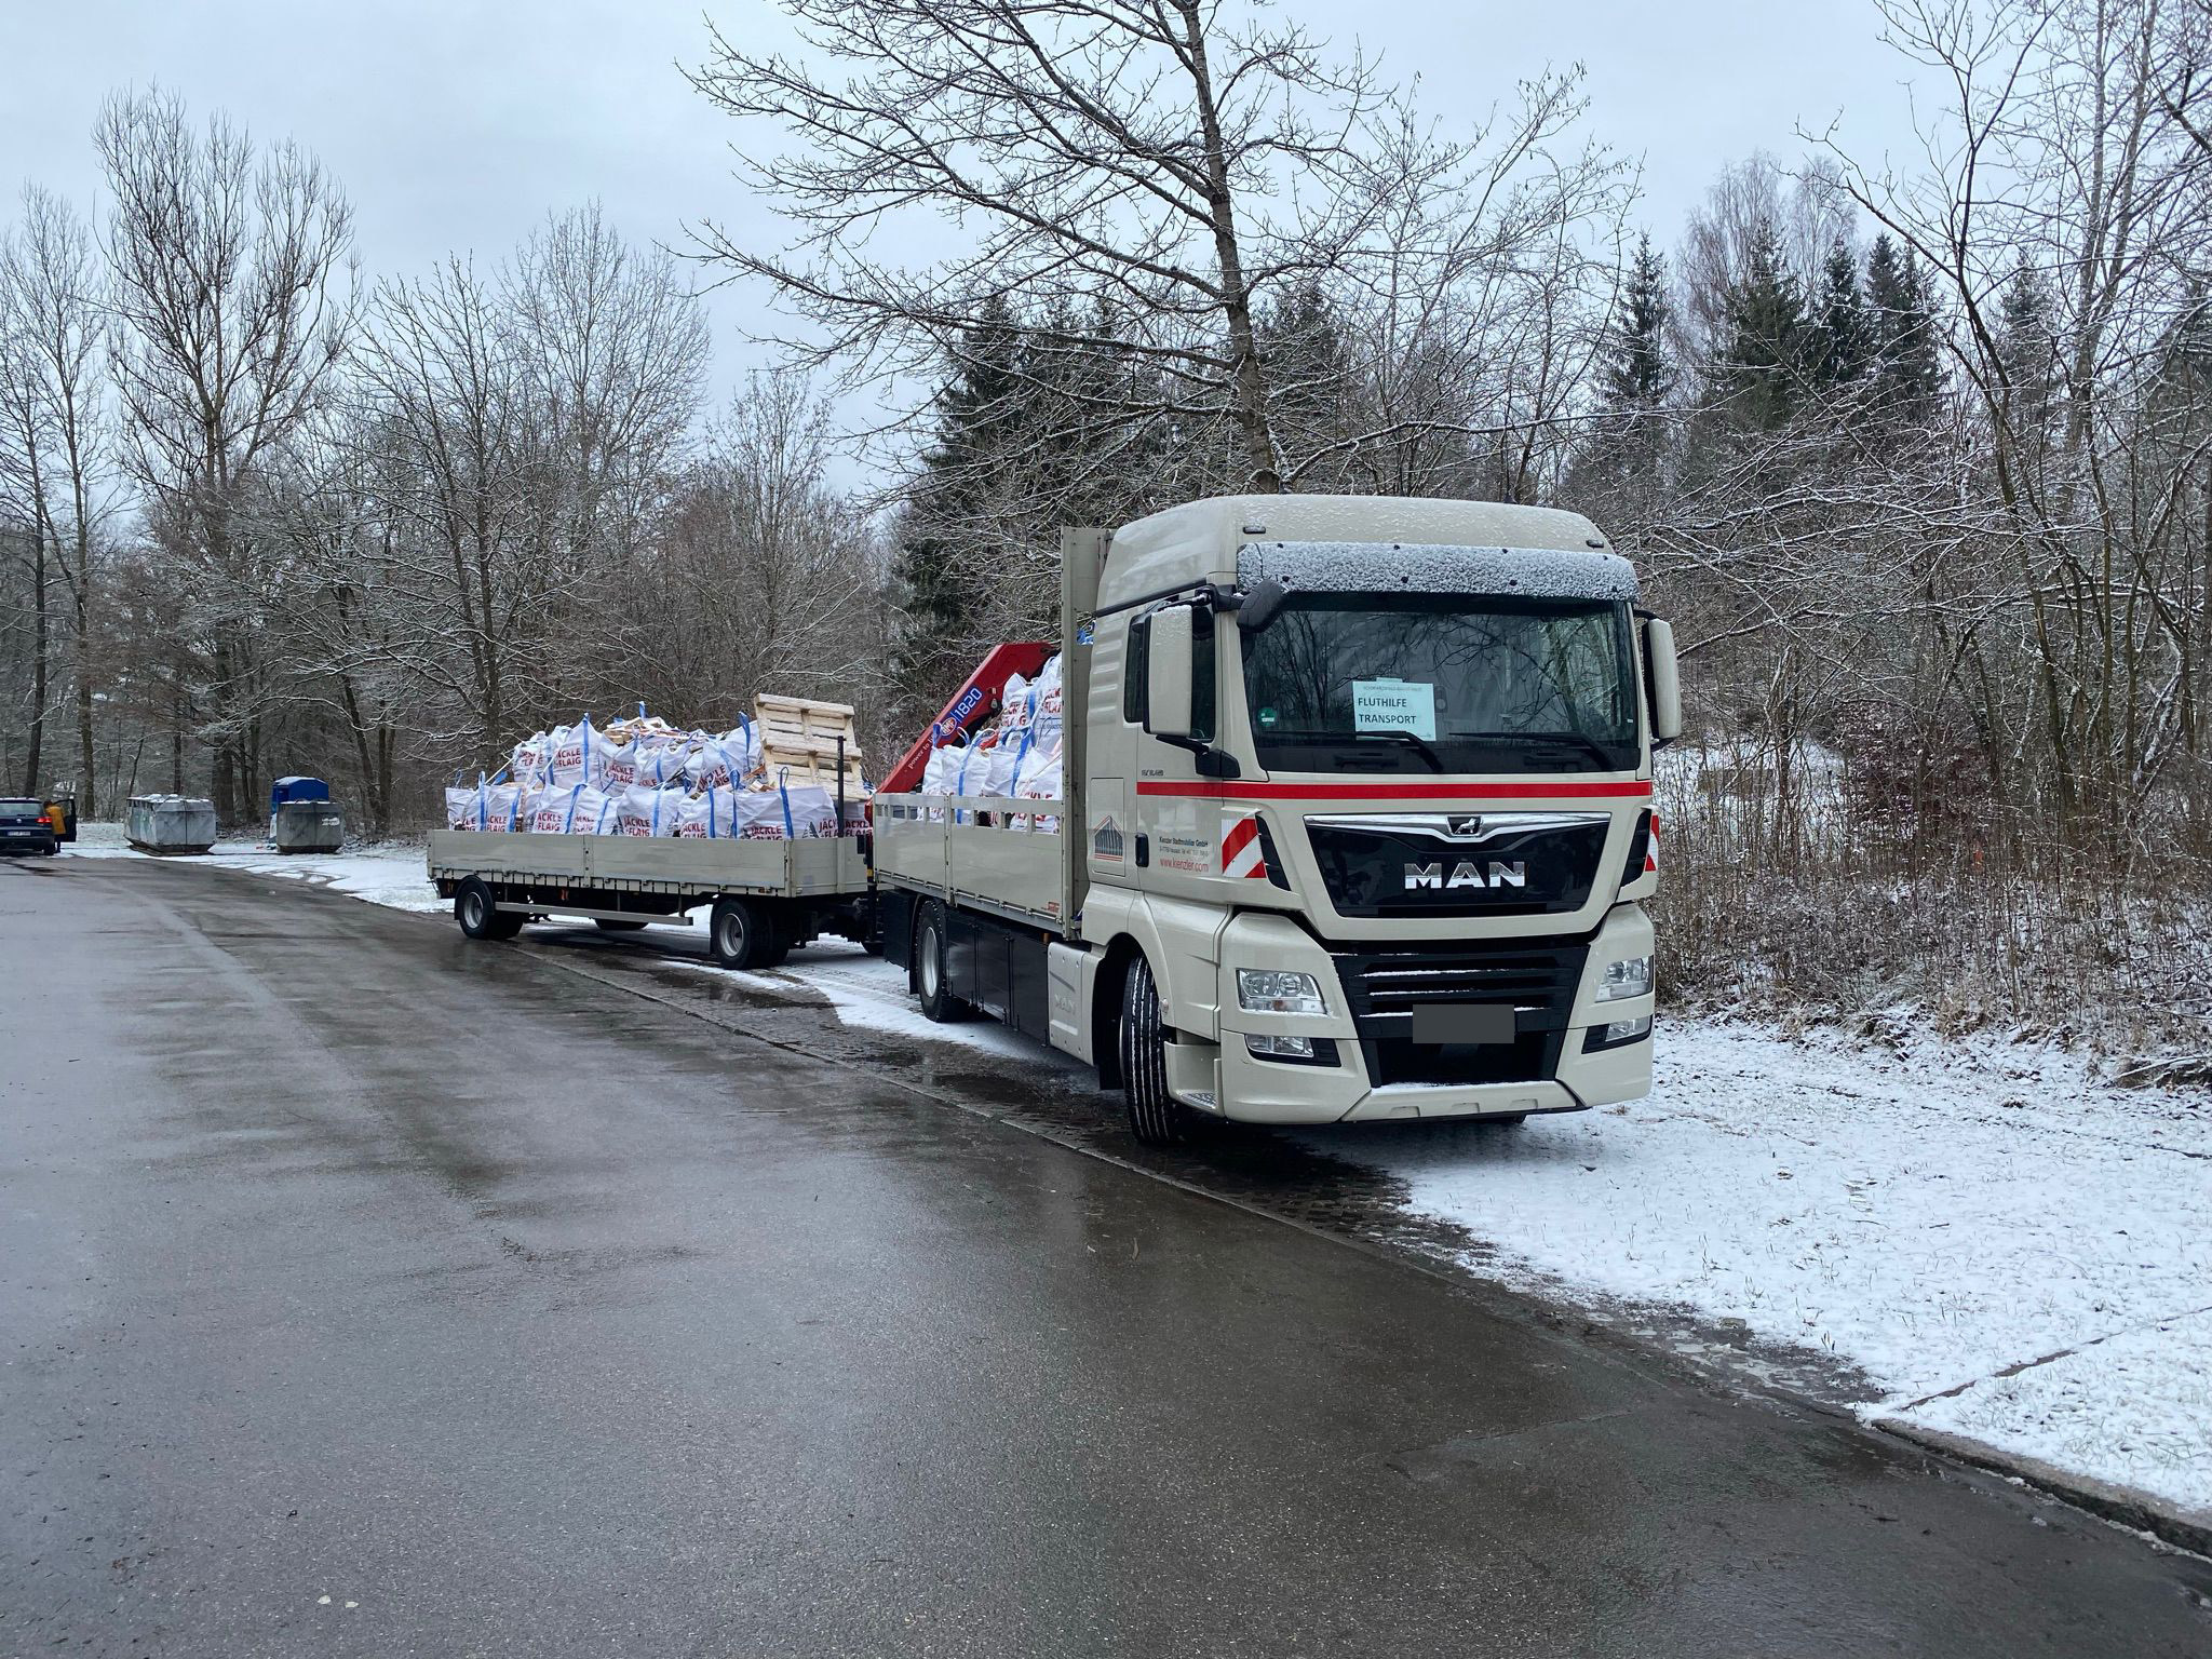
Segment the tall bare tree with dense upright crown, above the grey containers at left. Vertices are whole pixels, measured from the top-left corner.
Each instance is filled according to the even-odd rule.
[[[166,93],[111,97],[95,131],[113,212],[115,378],[153,518],[199,582],[215,799],[250,810],[263,770],[261,597],[241,522],[263,458],[314,409],[354,321],[352,212],[294,144],[265,153]]]

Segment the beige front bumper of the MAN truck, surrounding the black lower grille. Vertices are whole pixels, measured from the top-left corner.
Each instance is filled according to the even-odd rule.
[[[1175,1093],[1250,1124],[1338,1124],[1407,1117],[1517,1117],[1639,1099],[1652,1086],[1650,1035],[1590,1048],[1593,1031],[1648,1018],[1650,998],[1597,1002],[1604,964],[1646,956],[1652,927],[1637,905],[1617,905],[1590,940],[1469,942],[1455,951],[1332,953],[1281,916],[1250,914],[1221,940],[1221,1042],[1170,1053]],[[1325,1015],[1245,1013],[1237,967],[1312,973]],[[1409,1002],[1418,998],[1511,1002],[1513,1044],[1420,1048]],[[1336,1064],[1287,1064],[1252,1055],[1248,1037],[1327,1037]],[[1206,1053],[1212,1051],[1212,1053]]]

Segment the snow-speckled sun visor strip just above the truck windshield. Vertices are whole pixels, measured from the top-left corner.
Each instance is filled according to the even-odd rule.
[[[1245,542],[1237,586],[1274,577],[1294,593],[1493,593],[1533,599],[1635,599],[1619,553],[1422,542]]]

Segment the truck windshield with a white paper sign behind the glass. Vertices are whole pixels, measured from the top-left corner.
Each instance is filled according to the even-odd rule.
[[[1628,608],[1606,599],[1303,593],[1243,635],[1270,770],[1628,772]]]

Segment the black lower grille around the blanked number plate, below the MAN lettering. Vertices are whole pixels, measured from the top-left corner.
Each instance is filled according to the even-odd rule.
[[[1447,951],[1338,953],[1371,1084],[1524,1084],[1557,1075],[1588,945],[1506,940]],[[1511,1004],[1513,1042],[1413,1042],[1420,1004]]]

